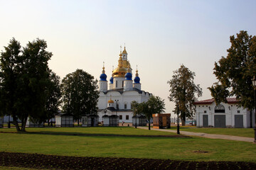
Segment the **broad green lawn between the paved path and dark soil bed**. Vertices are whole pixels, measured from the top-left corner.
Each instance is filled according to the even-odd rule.
[[[171,134],[170,132],[120,127],[28,128],[27,130],[29,132],[52,132],[52,134],[0,133],[0,151],[80,157],[129,157],[188,161],[256,162],[256,145],[250,142],[213,140],[203,137],[110,137],[70,135],[72,132],[121,135]],[[1,129],[1,131],[12,130]],[[63,134],[55,135],[55,132],[62,132]],[[208,153],[194,152],[198,150]]]

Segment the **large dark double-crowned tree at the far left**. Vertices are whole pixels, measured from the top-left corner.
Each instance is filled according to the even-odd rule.
[[[21,45],[14,38],[1,52],[1,112],[14,118],[17,131],[25,131],[28,116],[40,120],[45,111],[49,81],[46,41],[36,39]],[[21,129],[18,126],[21,120]]]

